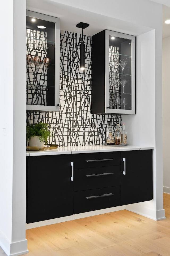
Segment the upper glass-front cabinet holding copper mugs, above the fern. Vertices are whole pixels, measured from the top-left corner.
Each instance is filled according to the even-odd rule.
[[[27,110],[59,111],[60,19],[27,11]]]

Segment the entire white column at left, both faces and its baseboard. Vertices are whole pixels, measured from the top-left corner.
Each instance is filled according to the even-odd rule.
[[[0,9],[0,246],[7,255],[28,252],[25,239],[25,9],[24,0],[4,1]],[[5,127],[6,135],[3,134]]]

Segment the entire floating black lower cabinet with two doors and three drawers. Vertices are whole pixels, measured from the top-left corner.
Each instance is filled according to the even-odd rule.
[[[152,150],[27,157],[27,223],[148,200]]]

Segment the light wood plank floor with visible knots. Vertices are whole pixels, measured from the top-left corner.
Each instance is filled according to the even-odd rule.
[[[170,195],[165,193],[164,209],[167,218],[161,221],[122,210],[29,229],[24,255],[170,256]]]

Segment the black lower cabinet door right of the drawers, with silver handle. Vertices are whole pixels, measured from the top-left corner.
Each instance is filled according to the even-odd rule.
[[[122,151],[121,205],[152,198],[152,150]]]

